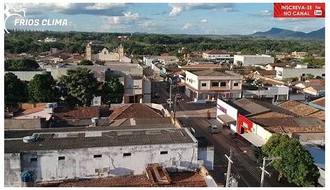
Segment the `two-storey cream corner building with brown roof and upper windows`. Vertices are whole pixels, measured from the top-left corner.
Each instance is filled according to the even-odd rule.
[[[243,76],[233,71],[186,71],[185,94],[196,102],[240,98]]]

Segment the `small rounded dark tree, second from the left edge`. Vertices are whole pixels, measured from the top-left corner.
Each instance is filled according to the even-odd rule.
[[[36,74],[29,85],[29,99],[37,102],[52,102],[56,100],[55,80],[49,74]]]

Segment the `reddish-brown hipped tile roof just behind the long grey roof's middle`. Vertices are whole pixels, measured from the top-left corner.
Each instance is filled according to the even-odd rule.
[[[110,115],[110,119],[124,118],[155,118],[162,117],[162,114],[152,107],[143,103],[132,103],[116,107]]]

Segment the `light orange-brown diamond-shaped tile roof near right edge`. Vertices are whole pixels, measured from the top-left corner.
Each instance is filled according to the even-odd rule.
[[[298,114],[300,116],[308,116],[309,114],[318,111],[314,107],[311,107],[309,105],[297,101],[286,101],[284,103],[279,104],[278,106],[282,107],[285,110]]]

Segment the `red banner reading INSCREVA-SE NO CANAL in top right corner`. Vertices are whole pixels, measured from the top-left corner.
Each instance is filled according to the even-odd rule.
[[[324,18],[325,3],[274,3],[274,17]]]

